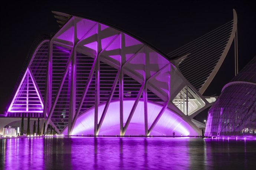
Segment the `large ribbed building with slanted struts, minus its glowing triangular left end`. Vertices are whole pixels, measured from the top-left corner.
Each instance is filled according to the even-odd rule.
[[[53,13],[61,28],[28,66],[46,126],[67,135],[201,135],[191,119],[214,99],[175,60],[120,28]]]

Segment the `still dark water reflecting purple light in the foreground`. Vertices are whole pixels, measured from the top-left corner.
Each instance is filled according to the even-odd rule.
[[[255,169],[255,144],[171,137],[0,139],[0,169]]]

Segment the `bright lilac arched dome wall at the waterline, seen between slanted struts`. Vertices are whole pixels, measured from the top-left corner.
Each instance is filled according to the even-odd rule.
[[[124,123],[127,120],[130,110],[134,101],[124,101]],[[98,120],[102,115],[105,104],[99,106]],[[148,125],[152,125],[152,122],[160,112],[162,106],[152,102],[148,102]],[[119,135],[119,101],[111,102],[106,113],[105,119],[102,123],[99,135]],[[94,108],[87,110],[75,123],[72,135],[92,135],[94,129]],[[67,134],[68,128],[63,131],[63,134]],[[175,135],[187,136],[197,135],[197,133],[183,120],[180,116],[166,109],[150,135]],[[144,102],[140,101],[135,109],[134,115],[127,128],[125,135],[144,135]]]

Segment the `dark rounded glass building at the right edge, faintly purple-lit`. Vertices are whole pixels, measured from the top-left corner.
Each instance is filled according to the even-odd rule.
[[[205,136],[256,136],[256,56],[223,87]]]

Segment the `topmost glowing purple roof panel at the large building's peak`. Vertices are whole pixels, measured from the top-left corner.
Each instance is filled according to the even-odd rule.
[[[79,18],[80,19],[80,18]],[[80,40],[83,35],[88,33],[88,31],[96,24],[96,22],[91,20],[82,19],[80,21],[77,21],[76,23],[76,36],[78,40]]]

